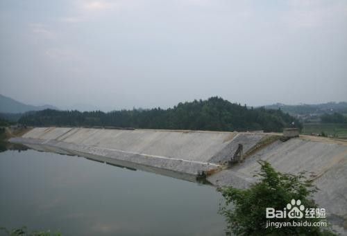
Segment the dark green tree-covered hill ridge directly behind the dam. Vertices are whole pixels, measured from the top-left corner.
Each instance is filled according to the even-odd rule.
[[[280,109],[248,108],[222,98],[179,103],[169,109],[110,111],[56,111],[46,109],[25,114],[23,125],[33,126],[113,126],[144,129],[192,129],[214,131],[281,131],[298,120]]]

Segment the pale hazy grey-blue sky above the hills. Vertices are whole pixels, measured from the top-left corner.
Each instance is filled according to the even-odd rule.
[[[0,0],[0,93],[62,109],[347,100],[347,1]]]

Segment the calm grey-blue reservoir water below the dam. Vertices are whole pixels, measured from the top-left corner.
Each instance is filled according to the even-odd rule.
[[[223,235],[221,194],[78,156],[0,153],[0,226],[63,235]]]

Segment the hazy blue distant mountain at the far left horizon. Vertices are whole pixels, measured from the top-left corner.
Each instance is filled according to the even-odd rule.
[[[0,113],[24,113],[26,111],[40,111],[44,109],[58,109],[51,105],[33,106],[13,100],[0,94]]]

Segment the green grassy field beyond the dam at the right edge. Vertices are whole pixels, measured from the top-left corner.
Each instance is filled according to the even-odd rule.
[[[302,134],[321,134],[324,132],[328,137],[346,138],[347,139],[347,124],[339,123],[304,123]]]

